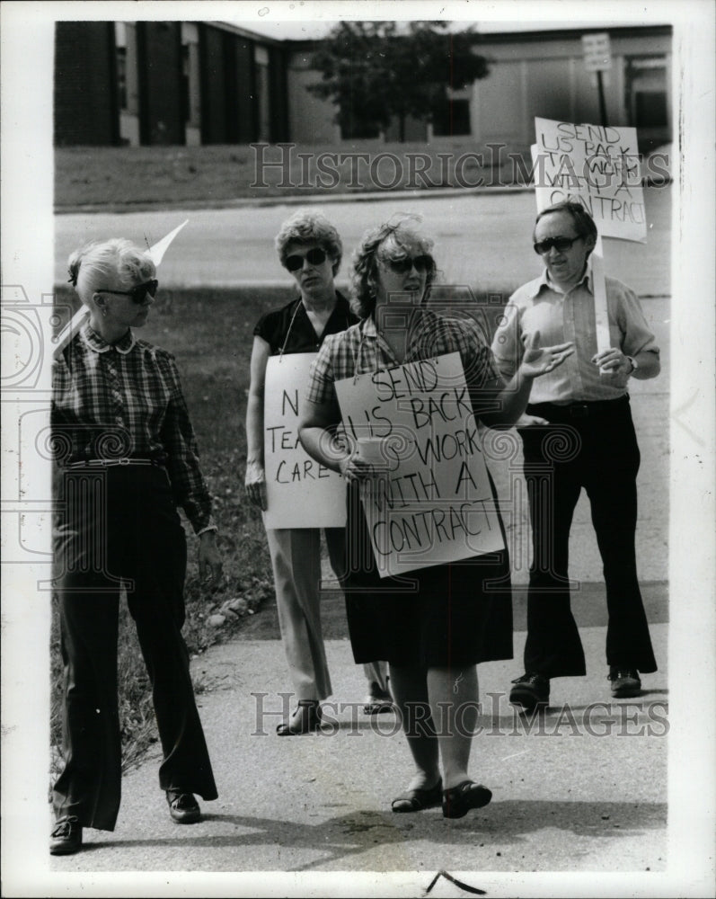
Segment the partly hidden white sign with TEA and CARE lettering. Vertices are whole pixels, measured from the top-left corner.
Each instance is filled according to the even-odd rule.
[[[336,472],[311,458],[298,440],[314,352],[271,356],[266,366],[263,402],[263,458],[267,528],[342,528],[346,523],[346,485]]]

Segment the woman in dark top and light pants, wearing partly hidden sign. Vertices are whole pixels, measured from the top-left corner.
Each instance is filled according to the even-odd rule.
[[[254,328],[251,384],[246,410],[246,491],[252,503],[267,509],[263,454],[263,399],[270,356],[317,352],[324,337],[338,334],[358,318],[335,288],[342,245],[335,227],[320,213],[299,210],[276,237],[281,264],[296,280],[299,297],[263,316]],[[267,528],[281,637],[286,650],[297,706],[278,725],[281,736],[314,731],[321,717],[320,701],[331,695],[321,628],[321,534],[317,528]],[[344,530],[325,529],[331,567],[337,577],[344,568]],[[390,708],[385,674],[378,663],[366,665],[369,682],[367,711]]]

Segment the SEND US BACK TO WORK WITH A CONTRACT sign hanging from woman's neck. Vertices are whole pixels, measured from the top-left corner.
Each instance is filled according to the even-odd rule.
[[[346,378],[336,393],[349,441],[375,459],[361,500],[381,577],[504,547],[459,353]]]

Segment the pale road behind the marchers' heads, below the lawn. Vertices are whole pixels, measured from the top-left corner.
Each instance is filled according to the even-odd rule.
[[[640,296],[664,297],[671,292],[671,187],[647,188],[645,205],[648,243],[605,241],[606,268]],[[162,263],[160,278],[165,285],[287,283],[290,279],[278,265],[273,239],[281,222],[295,209],[278,203],[237,209],[56,216],[56,281],[66,281],[67,256],[87,240],[124,236],[139,245],[145,241],[151,245],[189,218],[189,225]],[[363,232],[397,211],[422,216],[426,234],[436,241],[436,259],[447,284],[514,289],[540,272],[531,245],[533,191],[331,201],[323,211],[344,243],[343,274]]]

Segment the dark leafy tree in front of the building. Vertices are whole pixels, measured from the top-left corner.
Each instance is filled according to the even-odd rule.
[[[332,100],[344,136],[375,137],[397,118],[400,139],[411,115],[432,120],[446,89],[459,90],[488,74],[473,52],[473,31],[447,31],[447,22],[340,22],[314,53],[322,80],[308,90]]]

